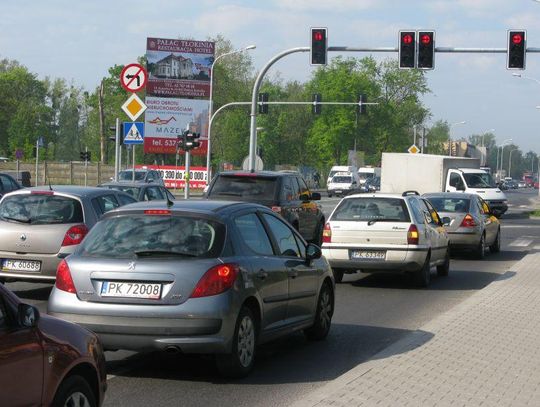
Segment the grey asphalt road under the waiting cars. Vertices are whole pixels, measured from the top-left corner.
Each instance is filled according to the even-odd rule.
[[[450,275],[435,275],[429,289],[416,289],[399,276],[345,276],[336,292],[336,313],[328,339],[307,342],[296,334],[259,350],[253,374],[222,380],[211,358],[108,352],[108,406],[285,406],[320,387],[408,332],[418,329],[480,290],[508,270],[526,251],[540,249],[540,220],[530,209],[532,191],[509,194],[502,220],[502,252],[476,261],[452,259]],[[326,213],[338,199],[323,199]],[[47,285],[8,284],[28,302],[46,307]]]

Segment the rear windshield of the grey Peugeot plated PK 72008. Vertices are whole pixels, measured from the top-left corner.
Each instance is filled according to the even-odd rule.
[[[98,222],[79,248],[88,257],[196,257],[221,254],[225,226],[198,217],[126,214]]]

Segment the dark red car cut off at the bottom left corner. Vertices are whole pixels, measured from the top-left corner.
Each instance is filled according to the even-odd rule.
[[[106,380],[93,333],[40,315],[0,284],[0,406],[100,406]]]

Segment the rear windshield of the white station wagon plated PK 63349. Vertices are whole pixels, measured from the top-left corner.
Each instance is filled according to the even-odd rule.
[[[341,201],[330,220],[410,222],[405,201],[399,198],[349,198]]]

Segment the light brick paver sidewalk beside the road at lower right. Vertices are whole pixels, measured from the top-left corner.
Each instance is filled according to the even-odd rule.
[[[294,404],[522,405],[540,406],[540,253]]]

